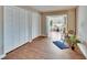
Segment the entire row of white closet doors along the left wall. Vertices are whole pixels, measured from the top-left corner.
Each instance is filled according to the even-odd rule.
[[[4,7],[4,53],[40,35],[40,13],[18,7]]]

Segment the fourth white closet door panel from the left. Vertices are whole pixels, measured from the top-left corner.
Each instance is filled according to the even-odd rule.
[[[25,41],[32,41],[32,11],[25,11]]]

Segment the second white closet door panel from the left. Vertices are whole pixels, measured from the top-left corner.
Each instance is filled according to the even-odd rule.
[[[20,13],[20,9],[19,8],[17,8],[17,7],[11,7],[12,8],[12,10],[13,10],[13,17],[12,17],[12,19],[13,19],[13,31],[12,31],[12,33],[13,33],[13,48],[15,48],[18,45],[19,45],[19,32],[20,32],[20,28],[19,28],[19,21],[20,21],[20,19],[19,19],[19,13]]]

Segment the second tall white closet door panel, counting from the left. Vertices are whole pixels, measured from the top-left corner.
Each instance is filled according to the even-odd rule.
[[[19,8],[12,7],[12,32],[10,31],[10,33],[12,33],[12,48],[15,48],[19,45],[19,41],[20,41],[20,10]],[[9,22],[8,22],[9,23]],[[10,26],[11,28],[11,26]]]

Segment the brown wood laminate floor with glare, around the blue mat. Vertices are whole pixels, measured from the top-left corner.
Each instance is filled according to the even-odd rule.
[[[79,51],[59,50],[48,37],[37,37],[10,52],[3,59],[84,59]]]

